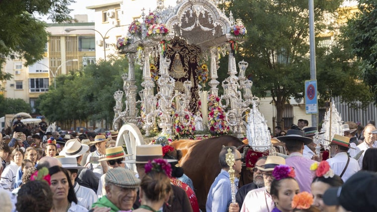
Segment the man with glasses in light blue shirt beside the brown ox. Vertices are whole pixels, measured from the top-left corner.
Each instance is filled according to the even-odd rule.
[[[232,202],[231,182],[229,179],[229,166],[226,162],[226,154],[228,148],[232,149],[234,154],[235,164],[233,165],[234,174],[237,176],[241,173],[242,156],[241,153],[234,146],[224,146],[219,153],[219,162],[221,171],[212,183],[207,196],[207,203],[205,208],[207,212],[226,212]],[[238,187],[238,179],[235,178],[236,188]]]

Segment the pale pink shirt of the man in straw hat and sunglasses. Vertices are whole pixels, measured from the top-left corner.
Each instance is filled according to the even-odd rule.
[[[263,187],[248,192],[241,212],[271,212],[274,207],[274,201]]]

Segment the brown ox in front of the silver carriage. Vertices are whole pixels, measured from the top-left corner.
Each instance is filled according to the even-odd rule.
[[[233,136],[222,136],[196,141],[179,140],[171,143],[176,149],[182,150],[183,157],[180,160],[180,165],[194,184],[199,208],[202,211],[205,211],[209,189],[221,170],[219,153],[222,145],[238,147],[242,144],[238,138]],[[250,183],[252,181],[251,172],[243,171],[243,173],[241,173],[241,176],[244,176],[244,183]],[[248,179],[245,180],[245,178]]]

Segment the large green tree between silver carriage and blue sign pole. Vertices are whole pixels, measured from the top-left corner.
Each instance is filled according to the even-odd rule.
[[[324,30],[332,30],[335,11],[341,2],[314,2],[317,36]],[[304,81],[310,79],[308,7],[308,1],[303,0],[245,0],[233,1],[228,8],[234,17],[242,17],[248,30],[237,59],[249,62],[247,75],[250,74],[254,82],[253,93],[260,97],[272,96],[278,126],[282,126],[283,111],[289,98],[303,97]]]

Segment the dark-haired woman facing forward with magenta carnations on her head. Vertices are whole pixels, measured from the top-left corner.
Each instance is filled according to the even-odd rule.
[[[274,180],[271,183],[270,194],[275,203],[272,212],[292,212],[293,197],[300,193],[300,187],[295,180],[295,170],[288,165],[278,165],[272,171]]]

